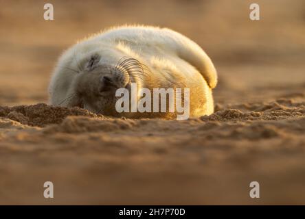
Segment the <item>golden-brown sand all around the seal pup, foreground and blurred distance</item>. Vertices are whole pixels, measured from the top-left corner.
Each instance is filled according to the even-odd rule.
[[[43,3],[1,2],[0,204],[305,204],[305,5],[258,1],[252,23],[250,2],[54,1],[52,22]],[[123,23],[198,42],[218,70],[215,113],[130,120],[47,105],[63,49]]]

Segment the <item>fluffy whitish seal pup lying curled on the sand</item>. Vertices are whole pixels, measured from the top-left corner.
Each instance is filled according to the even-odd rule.
[[[58,60],[49,85],[50,103],[128,118],[172,118],[170,113],[118,113],[115,90],[190,88],[190,117],[214,112],[217,75],[206,53],[170,29],[117,27],[75,44]]]

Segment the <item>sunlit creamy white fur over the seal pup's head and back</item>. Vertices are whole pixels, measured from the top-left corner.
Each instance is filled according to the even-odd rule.
[[[159,86],[164,85],[165,77],[170,77],[171,73],[178,73],[186,81],[198,78],[198,82],[192,83],[202,83],[199,86],[208,85],[203,89],[207,90],[207,93],[203,94],[207,106],[203,107],[203,111],[195,109],[194,112],[199,113],[194,116],[213,112],[211,89],[216,86],[217,75],[210,57],[198,44],[171,29],[146,26],[110,29],[81,40],[65,51],[58,60],[49,85],[52,105],[67,105],[63,100],[73,93],[74,78],[77,75],[67,68],[84,66],[89,55],[93,53],[100,54],[99,64],[115,65],[122,57],[133,57],[150,68],[154,77],[159,79]],[[201,82],[199,74],[206,83]],[[148,83],[142,86],[149,88]]]

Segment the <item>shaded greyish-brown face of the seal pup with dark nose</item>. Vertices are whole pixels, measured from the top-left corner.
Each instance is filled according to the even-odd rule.
[[[78,106],[96,114],[115,116],[115,96],[118,88],[131,83],[128,71],[121,66],[99,64],[100,57],[92,56],[75,81]]]

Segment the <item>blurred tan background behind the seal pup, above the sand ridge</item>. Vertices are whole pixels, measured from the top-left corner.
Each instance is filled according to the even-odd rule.
[[[218,70],[216,103],[304,96],[304,0],[0,3],[0,105],[47,103],[59,55],[124,24],[169,27],[197,42]],[[54,5],[54,21],[43,19],[45,3]],[[260,5],[260,21],[249,19],[251,3]]]

